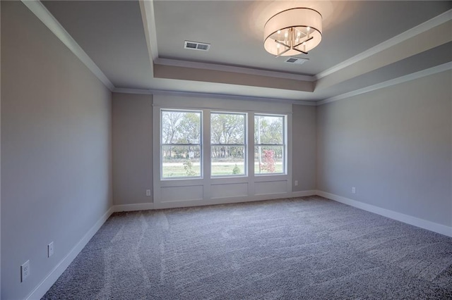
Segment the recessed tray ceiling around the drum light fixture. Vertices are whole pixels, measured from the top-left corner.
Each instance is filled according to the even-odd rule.
[[[319,101],[452,61],[452,1],[43,4],[123,91]],[[263,49],[266,20],[290,7],[323,15],[322,42],[300,56],[309,58],[302,65],[284,63]],[[210,43],[210,50],[184,49],[186,39]]]

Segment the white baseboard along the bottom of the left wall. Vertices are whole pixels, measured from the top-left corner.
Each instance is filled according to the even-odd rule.
[[[102,215],[102,217],[97,220],[95,225],[86,232],[86,234],[82,237],[82,239],[76,244],[76,246],[69,251],[69,254],[64,256],[63,259],[53,268],[52,271],[40,282],[35,289],[27,296],[26,299],[41,299],[42,296],[52,287],[52,285],[57,282],[57,279],[63,274],[64,270],[69,267],[74,258],[82,251],[82,249],[90,242],[91,237],[95,235],[97,230],[102,227],[105,221],[109,218],[113,213],[113,207],[110,207],[109,210]]]

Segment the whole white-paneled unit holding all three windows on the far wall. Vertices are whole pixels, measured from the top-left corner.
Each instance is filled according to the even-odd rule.
[[[155,94],[153,206],[290,196],[291,112],[288,103]]]

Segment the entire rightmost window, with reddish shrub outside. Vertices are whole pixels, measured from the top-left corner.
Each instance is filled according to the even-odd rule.
[[[254,115],[254,173],[285,174],[285,116]]]

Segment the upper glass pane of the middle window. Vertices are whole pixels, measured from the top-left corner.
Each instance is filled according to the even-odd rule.
[[[210,142],[212,144],[245,144],[245,114],[211,113]]]

